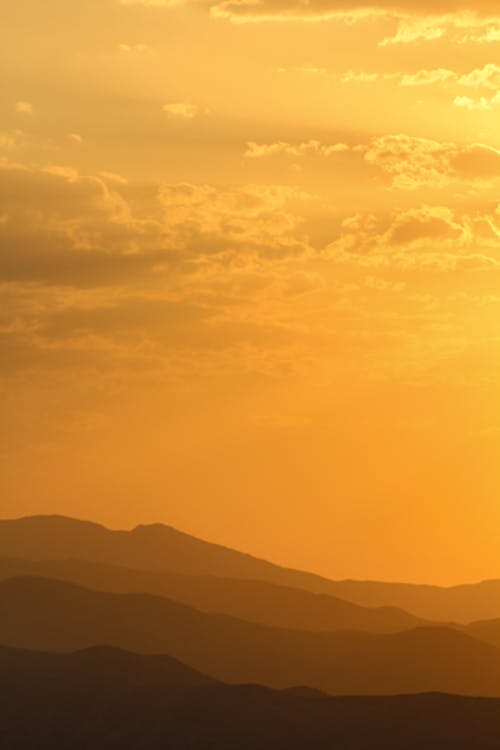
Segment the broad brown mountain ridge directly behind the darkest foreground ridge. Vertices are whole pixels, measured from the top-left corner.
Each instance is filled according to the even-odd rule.
[[[451,629],[394,635],[284,630],[161,597],[37,578],[0,583],[0,643],[51,651],[106,643],[169,653],[216,679],[278,688],[500,695],[500,650]]]

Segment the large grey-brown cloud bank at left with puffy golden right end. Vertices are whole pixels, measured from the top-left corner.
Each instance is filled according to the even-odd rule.
[[[218,254],[283,258],[307,249],[292,188],[157,184],[144,194],[119,175],[0,163],[0,282],[76,287],[155,284],[197,272]]]

